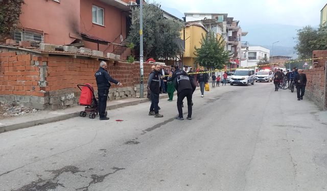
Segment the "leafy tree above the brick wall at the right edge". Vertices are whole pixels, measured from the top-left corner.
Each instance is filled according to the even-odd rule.
[[[327,27],[320,26],[315,29],[305,26],[297,31],[297,44],[294,47],[299,54],[299,59],[312,58],[313,50],[327,49]]]

